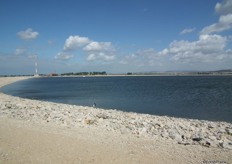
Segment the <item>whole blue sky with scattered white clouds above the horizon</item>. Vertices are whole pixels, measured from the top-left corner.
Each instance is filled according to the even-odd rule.
[[[232,69],[232,0],[1,0],[0,75]]]

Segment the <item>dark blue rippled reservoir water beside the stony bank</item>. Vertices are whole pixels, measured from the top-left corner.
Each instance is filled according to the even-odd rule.
[[[30,99],[232,122],[232,77],[33,78],[0,90]]]

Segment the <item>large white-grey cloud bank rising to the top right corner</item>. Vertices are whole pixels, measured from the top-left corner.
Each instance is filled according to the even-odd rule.
[[[216,33],[232,29],[232,0],[223,1],[215,6],[220,14],[218,22],[203,28],[196,41],[173,41],[167,48],[156,52],[154,49],[139,50],[122,58],[122,67],[140,67],[139,70],[150,67],[156,70],[179,69],[217,69],[228,67],[232,60],[232,50],[226,49],[229,36]],[[196,28],[183,29],[180,34],[194,32]]]

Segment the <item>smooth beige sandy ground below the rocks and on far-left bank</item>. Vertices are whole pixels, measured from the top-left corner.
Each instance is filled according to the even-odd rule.
[[[0,87],[24,78],[0,78]],[[232,150],[1,115],[0,163],[232,163]]]

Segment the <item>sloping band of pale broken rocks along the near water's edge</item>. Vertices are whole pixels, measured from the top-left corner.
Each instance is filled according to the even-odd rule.
[[[97,128],[176,144],[232,149],[232,124],[103,110],[13,97],[0,93],[0,117],[67,128]]]

